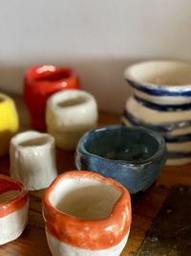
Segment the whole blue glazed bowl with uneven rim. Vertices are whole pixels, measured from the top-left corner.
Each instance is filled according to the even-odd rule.
[[[131,194],[145,191],[158,178],[166,160],[163,137],[148,128],[109,126],[84,134],[79,140],[75,165],[112,177]]]

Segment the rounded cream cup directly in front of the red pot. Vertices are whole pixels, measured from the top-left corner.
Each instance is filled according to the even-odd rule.
[[[74,150],[83,133],[96,128],[96,100],[82,90],[57,92],[47,102],[46,122],[56,146]]]

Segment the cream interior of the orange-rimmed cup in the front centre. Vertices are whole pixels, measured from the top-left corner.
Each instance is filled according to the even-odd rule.
[[[58,211],[84,220],[110,216],[121,191],[114,185],[87,177],[62,179],[50,195]]]

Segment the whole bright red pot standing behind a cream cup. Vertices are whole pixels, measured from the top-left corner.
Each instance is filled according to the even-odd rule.
[[[77,89],[79,81],[70,68],[38,65],[30,68],[24,81],[24,99],[32,116],[33,128],[46,130],[47,99],[60,90]]]

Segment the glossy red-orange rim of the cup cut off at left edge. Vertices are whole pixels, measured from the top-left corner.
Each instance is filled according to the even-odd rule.
[[[29,199],[29,193],[21,182],[9,176],[0,175],[0,183],[2,183],[0,194],[11,190],[19,191],[19,195],[14,198],[0,202],[0,218],[2,218],[22,208]]]

